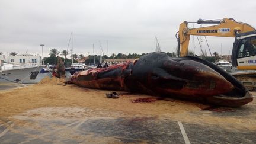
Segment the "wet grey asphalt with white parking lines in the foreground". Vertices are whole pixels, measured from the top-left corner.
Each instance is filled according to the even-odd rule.
[[[0,143],[256,143],[255,130],[181,123],[167,117],[73,119],[21,114],[14,118],[22,124],[1,118]]]

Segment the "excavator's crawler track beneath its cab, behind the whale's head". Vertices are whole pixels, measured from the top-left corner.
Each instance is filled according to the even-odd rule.
[[[242,82],[249,91],[256,91],[256,72],[235,73],[232,74],[236,79]]]

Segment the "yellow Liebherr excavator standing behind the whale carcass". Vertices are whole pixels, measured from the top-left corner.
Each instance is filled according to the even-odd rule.
[[[188,28],[188,23],[217,24],[209,27]],[[238,70],[256,70],[256,30],[251,25],[233,18],[221,20],[184,21],[178,31],[178,55],[188,55],[190,35],[235,37],[232,49],[232,66]],[[236,73],[235,76],[249,89],[256,90],[256,73]]]

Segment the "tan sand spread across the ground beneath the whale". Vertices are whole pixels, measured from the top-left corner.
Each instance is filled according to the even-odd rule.
[[[140,100],[139,98],[148,100],[155,97],[117,91],[120,94],[119,98],[107,98],[105,94],[111,92],[113,91],[88,89],[76,85],[65,86],[60,79],[46,77],[36,85],[0,91],[0,118],[9,119],[20,114],[27,114],[30,117],[40,117],[40,115],[41,117],[44,115],[54,117],[56,114],[58,117],[72,118],[92,116],[93,114],[100,116],[100,113],[107,114],[108,112],[111,113],[109,115],[111,117],[167,117],[187,123],[214,123],[223,127],[232,126],[256,130],[256,104],[254,101],[241,108],[236,108],[235,111],[241,112],[235,115],[234,112],[226,112],[227,116],[221,116],[221,114],[215,114],[217,112],[201,110],[197,106],[198,103],[174,99],[171,101],[154,99],[151,103],[132,103],[134,100]],[[95,112],[98,110],[101,112]],[[102,114],[102,116],[106,114]]]

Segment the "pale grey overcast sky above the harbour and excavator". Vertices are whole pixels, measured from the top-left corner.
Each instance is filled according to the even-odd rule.
[[[44,44],[44,56],[49,56],[50,49],[67,49],[72,32],[77,54],[92,55],[92,44],[95,55],[99,54],[101,43],[107,55],[107,41],[109,55],[149,53],[155,50],[155,36],[163,52],[174,52],[175,34],[183,21],[227,17],[255,27],[255,12],[255,0],[0,0],[0,52],[41,55],[40,44]],[[223,55],[232,53],[233,38],[207,37],[207,41],[212,52],[221,54],[222,44]],[[190,42],[193,50],[193,37]],[[204,39],[203,49],[208,49]]]

